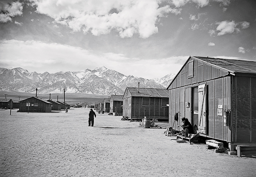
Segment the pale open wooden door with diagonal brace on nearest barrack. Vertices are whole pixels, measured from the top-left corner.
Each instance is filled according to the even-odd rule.
[[[206,134],[206,84],[198,85],[198,131]]]

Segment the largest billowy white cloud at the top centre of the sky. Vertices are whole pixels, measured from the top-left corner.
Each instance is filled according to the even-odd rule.
[[[120,37],[139,34],[148,38],[158,32],[156,23],[167,14],[179,14],[181,9],[160,7],[159,0],[32,0],[37,12],[47,14],[55,22],[73,31],[91,32],[95,36],[114,30]]]

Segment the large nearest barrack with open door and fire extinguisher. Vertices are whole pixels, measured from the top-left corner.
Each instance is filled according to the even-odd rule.
[[[190,56],[167,89],[169,126],[177,112],[177,124],[188,118],[195,133],[228,142],[230,151],[256,143],[255,61]]]

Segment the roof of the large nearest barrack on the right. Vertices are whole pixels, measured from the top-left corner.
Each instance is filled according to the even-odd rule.
[[[256,73],[256,61],[192,56],[232,73]]]

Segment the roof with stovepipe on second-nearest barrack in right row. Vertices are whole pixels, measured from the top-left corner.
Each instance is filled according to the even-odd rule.
[[[135,97],[161,97],[161,98],[169,98],[169,92],[166,89],[159,88],[140,88],[140,92],[138,92],[137,87],[127,87],[131,96]]]

